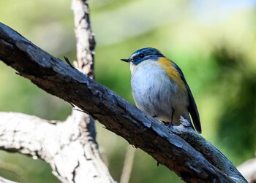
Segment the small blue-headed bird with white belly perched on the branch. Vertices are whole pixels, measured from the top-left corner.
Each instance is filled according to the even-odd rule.
[[[183,117],[197,133],[202,132],[195,99],[176,63],[153,47],[137,50],[121,61],[130,65],[132,96],[138,109],[169,125],[180,125]]]

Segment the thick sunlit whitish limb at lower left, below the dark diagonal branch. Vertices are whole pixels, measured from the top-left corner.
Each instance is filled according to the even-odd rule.
[[[80,117],[65,122],[13,112],[0,117],[0,149],[45,160],[61,182],[114,182]]]

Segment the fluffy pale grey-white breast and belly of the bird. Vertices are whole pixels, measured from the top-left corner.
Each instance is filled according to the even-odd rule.
[[[131,82],[132,95],[138,108],[158,120],[170,122],[173,110],[181,113],[187,110],[186,92],[179,90],[160,66],[151,64],[136,69]]]

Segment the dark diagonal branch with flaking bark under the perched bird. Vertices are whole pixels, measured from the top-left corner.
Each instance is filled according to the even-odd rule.
[[[197,146],[203,148],[205,144],[193,144],[192,147],[173,133],[177,128],[170,131],[113,91],[39,49],[3,24],[0,24],[0,59],[38,87],[91,114],[110,131],[124,137],[130,144],[143,149],[157,162],[175,171],[184,181],[246,182],[238,171],[237,179],[225,174],[228,171],[223,165],[230,161],[219,151],[213,152],[218,153],[219,157],[223,156],[225,162],[214,165],[206,160],[203,152],[195,149]],[[178,129],[186,131],[189,138],[203,139],[192,130],[187,132],[188,129],[182,129],[182,126]],[[202,143],[203,141],[212,148],[208,141],[202,140]],[[232,163],[230,166],[236,170]]]

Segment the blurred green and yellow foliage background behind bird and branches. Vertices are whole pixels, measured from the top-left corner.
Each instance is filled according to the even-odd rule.
[[[134,104],[129,65],[120,58],[157,47],[184,72],[197,102],[202,136],[236,166],[255,157],[256,1],[91,0],[96,81]],[[0,21],[63,59],[76,59],[71,1],[1,0]],[[71,106],[0,62],[0,111],[65,120]],[[128,143],[97,122],[97,141],[120,180]],[[50,166],[0,151],[0,176],[18,182],[59,182]],[[130,182],[182,182],[137,149]]]

